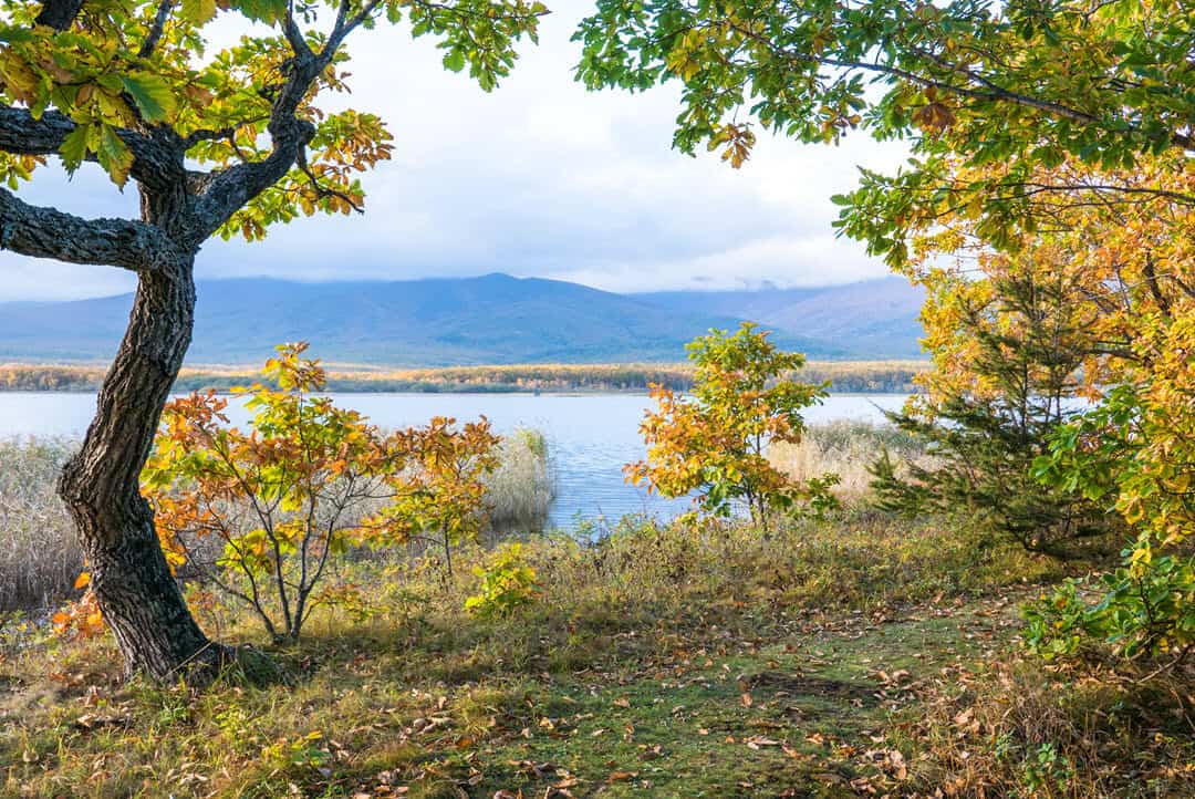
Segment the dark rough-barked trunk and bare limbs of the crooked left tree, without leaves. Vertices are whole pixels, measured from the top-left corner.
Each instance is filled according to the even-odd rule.
[[[188,676],[192,668],[210,674],[227,654],[195,623],[170,573],[153,511],[141,497],[141,469],[191,342],[195,254],[233,214],[302,162],[315,129],[299,118],[299,107],[344,37],[378,6],[379,0],[367,0],[350,16],[348,0],[342,0],[336,26],[318,54],[287,16],[283,33],[294,57],[274,97],[266,125],[271,149],[261,160],[189,172],[190,146],[229,133],[198,130],[183,139],[161,124],[118,129],[133,153],[140,220],[80,219],[30,205],[0,189],[0,250],[139,275],[129,326],[100,388],[96,418],[59,481],[87,554],[92,588],[129,674],[157,680]],[[38,23],[66,30],[81,7],[82,0],[45,0]],[[160,0],[143,54],[157,45],[172,7],[173,0]],[[74,129],[75,123],[54,109],[35,118],[24,107],[0,107],[0,152],[51,155]]]

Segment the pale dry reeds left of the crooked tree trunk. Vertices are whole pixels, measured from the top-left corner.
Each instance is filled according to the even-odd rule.
[[[0,441],[0,611],[68,596],[82,567],[74,527],[54,493],[74,442]]]

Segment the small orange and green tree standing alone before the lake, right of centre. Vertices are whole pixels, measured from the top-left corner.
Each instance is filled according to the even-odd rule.
[[[693,397],[652,386],[658,410],[639,428],[648,457],[625,467],[630,483],[664,497],[697,491],[700,508],[719,516],[741,502],[765,533],[774,512],[797,502],[832,502],[834,475],[795,484],[767,460],[771,443],[801,441],[801,411],[826,397],[822,386],[788,379],[804,356],[777,349],[767,337],[743,322],[734,336],[713,330],[688,345],[697,364]]]

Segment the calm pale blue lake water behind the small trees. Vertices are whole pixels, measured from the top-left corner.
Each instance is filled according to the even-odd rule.
[[[558,478],[553,526],[571,527],[578,514],[613,521],[624,514],[667,515],[688,508],[687,500],[651,497],[623,481],[623,465],[644,454],[638,428],[650,401],[643,394],[344,394],[338,401],[385,428],[422,424],[433,416],[468,420],[484,413],[498,432],[543,431]],[[815,424],[880,422],[881,410],[903,401],[903,394],[836,394],[809,408],[805,418]],[[94,404],[92,394],[0,392],[0,437],[82,436]],[[232,420],[243,424],[244,412],[231,410]]]

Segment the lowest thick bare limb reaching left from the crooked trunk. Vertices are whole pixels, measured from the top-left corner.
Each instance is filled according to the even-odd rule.
[[[0,250],[72,264],[153,271],[185,258],[160,228],[118,219],[85,220],[39,208],[0,189]]]

